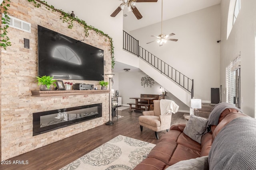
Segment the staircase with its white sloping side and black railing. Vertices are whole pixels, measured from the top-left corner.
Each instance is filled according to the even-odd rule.
[[[194,96],[194,80],[140,47],[139,41],[125,31],[123,38],[123,49],[139,57],[140,70],[190,107],[190,100]]]

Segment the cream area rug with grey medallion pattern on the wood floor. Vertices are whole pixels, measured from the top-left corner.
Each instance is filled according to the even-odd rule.
[[[61,170],[132,170],[156,146],[118,135]]]

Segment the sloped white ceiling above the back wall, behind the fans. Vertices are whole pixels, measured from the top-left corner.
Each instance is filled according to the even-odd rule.
[[[220,4],[220,2],[221,0],[163,0],[163,20],[214,6]],[[140,20],[137,20],[132,12],[127,12],[127,8],[124,9],[123,13],[127,15],[124,17],[124,30],[132,31],[161,22],[161,3],[162,0],[158,0],[158,2],[136,3],[136,8],[143,16]]]

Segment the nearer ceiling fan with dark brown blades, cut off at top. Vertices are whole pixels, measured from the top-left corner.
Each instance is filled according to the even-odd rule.
[[[136,2],[157,2],[157,0],[122,0],[122,4],[118,6],[110,16],[115,17],[121,10],[124,9],[124,6],[127,6],[128,12],[132,11],[136,18],[140,20],[142,15],[136,8]]]

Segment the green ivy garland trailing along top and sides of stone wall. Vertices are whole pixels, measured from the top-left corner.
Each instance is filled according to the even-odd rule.
[[[8,2],[10,2],[10,0],[6,0]],[[8,20],[6,20],[6,18],[8,18],[7,16],[7,6],[9,7],[10,4],[6,4],[6,1],[4,0],[1,4],[1,6],[4,8],[4,14],[5,14],[5,18],[2,18],[2,23],[5,24]],[[37,3],[37,2],[39,3]],[[68,28],[72,29],[72,27],[74,26],[73,24],[73,21],[77,21],[78,23],[82,24],[83,27],[84,27],[84,33],[85,33],[85,36],[88,37],[89,33],[88,31],[90,29],[96,31],[96,33],[100,33],[101,35],[107,37],[109,40],[110,40],[110,47],[111,47],[111,64],[112,64],[112,68],[114,68],[114,65],[115,65],[115,60],[114,60],[114,46],[113,46],[113,40],[112,40],[112,37],[110,37],[108,34],[105,34],[103,31],[100,31],[99,29],[96,29],[95,27],[91,26],[91,25],[87,25],[87,23],[84,21],[84,20],[80,20],[79,18],[72,18],[70,16],[70,14],[64,12],[63,10],[57,10],[54,8],[54,6],[50,6],[47,4],[47,2],[45,1],[40,1],[40,0],[28,0],[28,2],[34,2],[34,6],[36,8],[39,8],[41,6],[41,4],[44,4],[46,6],[46,8],[48,10],[52,9],[52,11],[56,11],[56,12],[59,12],[62,16],[60,16],[60,19],[62,20],[62,22],[66,22],[68,23]],[[9,25],[5,25],[4,28],[0,28],[1,30],[3,30],[3,33],[1,34],[1,37],[2,37],[2,42],[0,43],[0,45],[2,47],[4,47],[4,49],[6,50],[6,47],[7,46],[10,46],[11,45],[11,42],[9,42],[9,38],[7,36],[7,28],[9,27]]]

